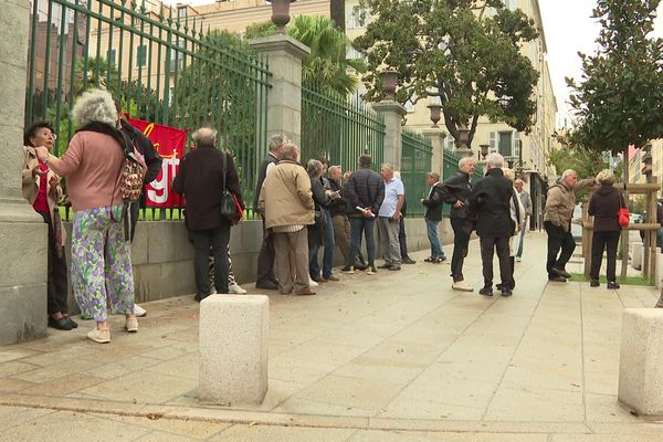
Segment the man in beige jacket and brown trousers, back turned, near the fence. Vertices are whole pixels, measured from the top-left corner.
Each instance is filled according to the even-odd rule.
[[[313,193],[311,178],[298,160],[297,146],[283,146],[281,160],[263,182],[257,209],[264,213],[265,229],[271,229],[274,235],[274,273],[278,292],[315,295],[308,285],[308,234],[305,229],[315,222]],[[295,256],[294,272],[291,252]]]

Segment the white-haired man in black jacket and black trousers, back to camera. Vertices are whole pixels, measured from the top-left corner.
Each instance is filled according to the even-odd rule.
[[[514,194],[512,182],[504,177],[504,158],[490,154],[486,158],[486,176],[474,185],[470,194],[470,212],[476,213],[476,233],[481,243],[484,286],[478,293],[493,296],[493,253],[497,250],[502,296],[511,296],[514,281],[511,271],[508,239],[515,231],[511,218],[511,199]]]

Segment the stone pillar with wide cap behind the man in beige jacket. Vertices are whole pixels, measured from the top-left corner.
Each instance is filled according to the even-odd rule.
[[[269,57],[273,74],[267,93],[267,137],[284,134],[298,146],[302,140],[302,60],[311,50],[284,34],[254,39],[250,44]]]

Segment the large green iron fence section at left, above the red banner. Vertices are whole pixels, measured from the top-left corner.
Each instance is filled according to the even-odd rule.
[[[131,117],[215,128],[251,201],[266,151],[267,63],[186,10],[145,0],[33,0],[25,124],[51,122],[62,154],[75,130],[74,98],[105,87]],[[179,218],[179,210],[143,215]]]

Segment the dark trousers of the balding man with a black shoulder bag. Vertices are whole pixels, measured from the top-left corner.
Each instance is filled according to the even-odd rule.
[[[193,272],[198,295],[203,298],[210,294],[210,246],[214,255],[214,287],[217,293],[228,293],[230,224],[224,223],[219,229],[192,230],[190,234],[193,240]]]

